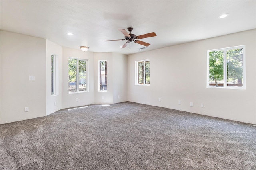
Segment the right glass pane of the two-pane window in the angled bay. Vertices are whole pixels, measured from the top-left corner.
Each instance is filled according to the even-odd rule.
[[[87,84],[86,84],[86,61],[85,60],[79,60],[79,91],[86,91],[87,90]]]

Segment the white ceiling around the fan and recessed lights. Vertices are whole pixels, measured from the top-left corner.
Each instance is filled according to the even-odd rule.
[[[223,13],[230,15],[219,19]],[[128,27],[157,36],[140,39],[151,44],[146,49],[104,42],[124,39],[118,28]],[[255,28],[256,0],[0,0],[1,30],[92,52],[140,53]]]

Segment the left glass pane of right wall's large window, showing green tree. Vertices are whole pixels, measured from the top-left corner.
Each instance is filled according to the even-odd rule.
[[[223,50],[209,53],[209,86],[223,87]]]

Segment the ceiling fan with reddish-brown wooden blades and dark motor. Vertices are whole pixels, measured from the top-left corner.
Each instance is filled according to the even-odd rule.
[[[154,33],[154,32],[136,36],[135,34],[131,33],[133,28],[129,27],[127,29],[128,29],[128,31],[130,31],[130,33],[128,33],[125,29],[119,29],[119,31],[121,31],[121,33],[124,34],[124,39],[114,39],[114,40],[106,40],[106,41],[122,41],[122,40],[127,40],[127,42],[124,43],[124,45],[122,47],[120,47],[120,48],[125,48],[128,45],[128,43],[130,43],[132,41],[134,41],[134,43],[138,43],[140,45],[144,45],[144,46],[148,47],[150,45],[149,43],[146,43],[144,41],[140,41],[138,39],[156,36],[156,33]],[[128,48],[129,48],[129,46],[128,46]]]

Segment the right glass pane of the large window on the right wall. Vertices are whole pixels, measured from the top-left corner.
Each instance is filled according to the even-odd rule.
[[[227,51],[227,86],[243,86],[243,49]]]

